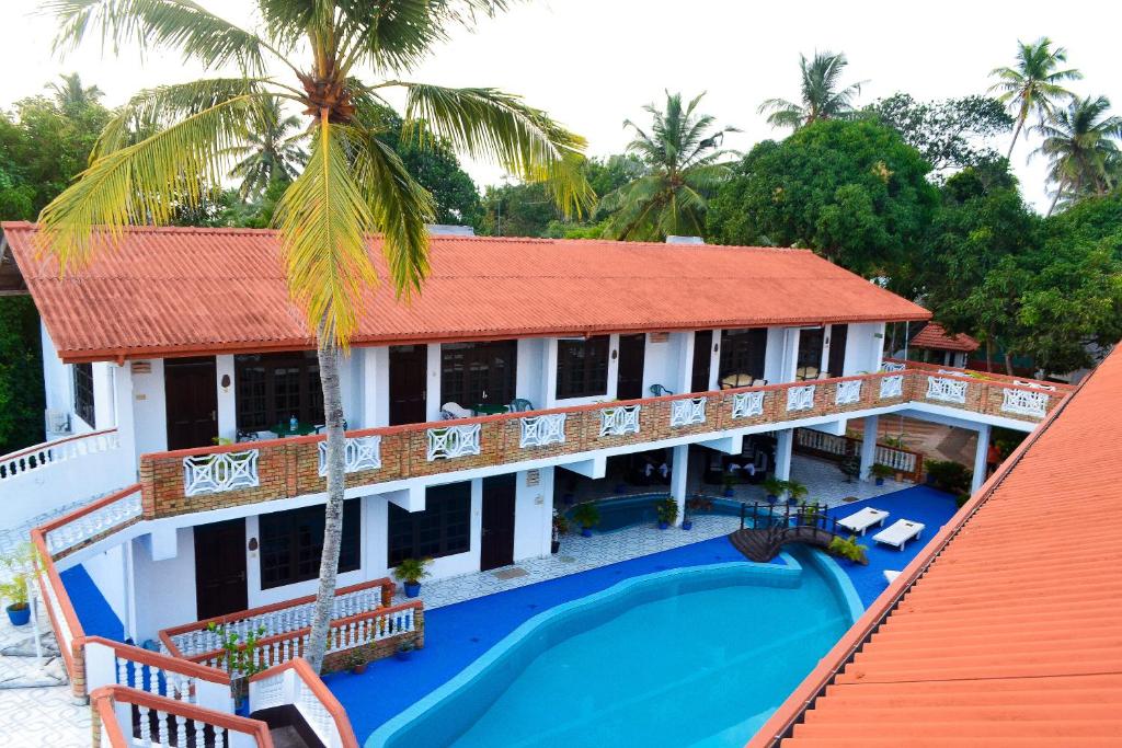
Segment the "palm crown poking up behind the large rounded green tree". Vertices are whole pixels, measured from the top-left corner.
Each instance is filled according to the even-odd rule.
[[[801,102],[787,99],[769,99],[760,104],[760,113],[771,112],[767,122],[772,127],[789,127],[798,130],[804,124],[829,119],[852,119],[856,116],[854,99],[861,93],[864,81],[842,84],[842,73],[849,61],[845,53],[816,52],[815,58],[807,61],[799,55],[799,71],[802,73]]]

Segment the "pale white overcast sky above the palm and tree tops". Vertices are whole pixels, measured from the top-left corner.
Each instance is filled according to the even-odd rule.
[[[237,22],[252,19],[251,0],[197,0]],[[52,52],[56,24],[42,15],[42,0],[2,0],[4,74],[0,108],[43,92],[62,73],[79,72],[105,92],[108,105],[138,89],[193,80],[204,71],[175,53],[135,50],[120,56],[92,38],[61,58]],[[1102,12],[1093,12],[1096,6]],[[590,155],[620,153],[629,137],[625,119],[644,121],[642,107],[707,92],[701,109],[720,124],[742,130],[727,147],[781,138],[756,109],[769,98],[798,96],[800,53],[844,52],[847,82],[867,83],[861,103],[905,91],[918,100],[984,93],[988,72],[1012,64],[1018,39],[1050,36],[1068,49],[1069,65],[1084,80],[1077,93],[1102,94],[1122,111],[1116,37],[1122,10],[1089,0],[1077,13],[1056,2],[801,2],[746,0],[537,0],[515,3],[484,19],[473,31],[457,30],[434,49],[412,80],[443,85],[486,85],[525,96],[588,139]],[[1114,8],[1113,11],[1110,8]],[[1111,19],[1111,15],[1115,17]],[[1008,140],[996,144],[1001,150]],[[1046,210],[1043,159],[1027,163],[1034,140],[1020,142],[1013,166],[1026,198]],[[480,185],[503,181],[488,164],[465,164]]]

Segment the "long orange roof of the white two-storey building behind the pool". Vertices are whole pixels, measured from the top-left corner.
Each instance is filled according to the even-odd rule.
[[[272,231],[138,228],[59,279],[0,227],[66,360],[311,345]],[[357,344],[930,316],[806,250],[434,236],[431,259],[412,305],[368,293]]]

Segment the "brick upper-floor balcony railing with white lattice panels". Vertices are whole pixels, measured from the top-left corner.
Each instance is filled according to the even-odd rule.
[[[884,369],[809,382],[352,431],[347,434],[347,486],[907,407],[950,408],[965,418],[977,414],[1031,425],[1070,389],[914,362],[888,361]],[[323,436],[147,454],[140,460],[140,480],[146,519],[320,492]]]

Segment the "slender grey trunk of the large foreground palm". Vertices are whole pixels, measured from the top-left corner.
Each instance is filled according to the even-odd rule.
[[[307,663],[316,673],[323,666],[328,646],[328,627],[339,576],[339,547],[343,533],[343,404],[339,386],[339,348],[320,338],[320,385],[323,389],[323,414],[328,432],[328,506],[323,525],[323,554],[320,556],[320,587],[315,591],[312,635]]]

